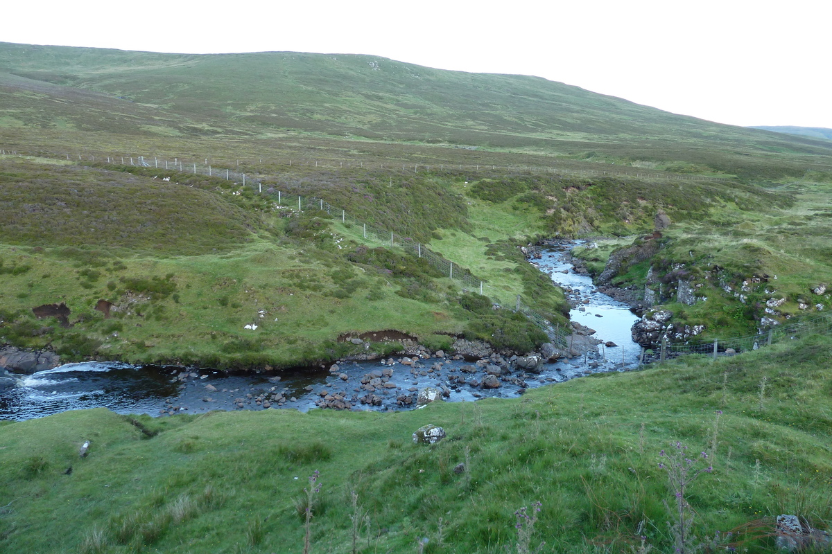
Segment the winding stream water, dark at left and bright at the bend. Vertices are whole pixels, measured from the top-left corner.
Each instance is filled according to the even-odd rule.
[[[214,409],[289,408],[306,411],[317,407],[324,395],[344,396],[354,409],[410,409],[406,398],[415,399],[424,387],[444,387],[446,400],[477,400],[483,397],[511,398],[525,388],[558,383],[590,373],[626,370],[637,364],[640,348],[630,338],[630,327],[638,319],[621,302],[592,285],[592,279],[572,271],[564,259],[565,247],[542,252],[536,265],[552,281],[572,292],[576,306],[572,321],[591,327],[602,343],[598,353],[586,358],[559,360],[542,366],[539,375],[521,376],[516,382],[502,380],[497,389],[472,385],[482,380],[483,367],[476,374],[462,368],[471,360],[431,358],[404,360],[395,356],[393,365],[381,360],[341,362],[336,372],[328,368],[303,368],[273,372],[228,372],[157,365],[128,365],[119,362],[67,364],[33,375],[15,375],[17,386],[0,391],[0,419],[25,420],[69,409],[104,407],[120,414],[200,414]],[[588,301],[587,303],[583,303]],[[392,374],[391,371],[392,370]],[[384,372],[384,373],[383,373]],[[373,393],[380,404],[365,404],[368,392],[360,382],[365,375],[378,375],[391,383]],[[517,377],[514,372],[513,377]],[[459,382],[464,378],[463,382]],[[330,396],[331,397],[331,396]],[[260,401],[258,401],[260,400]]]

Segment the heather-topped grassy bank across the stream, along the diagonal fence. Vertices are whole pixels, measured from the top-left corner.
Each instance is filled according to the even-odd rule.
[[[325,173],[311,180],[304,195],[328,191],[350,213],[417,240],[431,240],[439,225],[472,230],[453,177],[393,187],[374,174],[339,188],[325,186]],[[285,367],[358,351],[338,341],[350,332],[396,329],[436,348],[453,335],[491,338],[483,315],[464,308],[463,292],[424,260],[225,179],[9,156],[0,159],[0,191],[2,342],[52,348],[65,360]],[[562,292],[530,288],[542,274],[522,257],[508,265],[525,272],[484,272],[485,293],[506,304],[522,294],[563,321]],[[109,314],[97,311],[101,301]],[[61,302],[70,326],[32,312]],[[539,343],[530,323],[485,317],[493,318],[515,329],[500,346]],[[252,323],[258,329],[245,330]]]

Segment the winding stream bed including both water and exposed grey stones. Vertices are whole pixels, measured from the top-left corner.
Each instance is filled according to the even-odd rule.
[[[627,318],[635,316],[595,289],[585,269],[567,256],[568,246],[559,244],[535,261],[564,287],[573,304],[567,348],[545,344],[540,351],[518,356],[495,352],[483,341],[457,339],[445,351],[401,337],[394,355],[364,351],[358,355],[361,360],[344,357],[284,370],[88,361],[31,375],[9,374],[14,386],[0,393],[0,419],[31,419],[98,406],[151,415],[214,409],[413,409],[423,404],[420,395],[448,401],[510,398],[583,375],[631,369],[638,349],[625,339]],[[361,344],[368,349],[372,345]],[[30,354],[30,360],[42,355]]]

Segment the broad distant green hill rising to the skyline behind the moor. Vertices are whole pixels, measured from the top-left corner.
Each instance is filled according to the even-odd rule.
[[[2,126],[24,136],[32,128],[225,140],[291,140],[300,132],[335,148],[354,140],[471,145],[769,179],[826,165],[832,152],[824,140],[672,115],[537,77],[377,56],[2,43],[0,94]]]

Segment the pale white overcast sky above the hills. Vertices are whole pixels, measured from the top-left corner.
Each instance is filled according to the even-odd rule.
[[[2,42],[369,54],[541,76],[730,125],[832,128],[829,0],[45,0],[7,2],[2,17]]]

